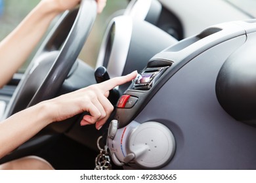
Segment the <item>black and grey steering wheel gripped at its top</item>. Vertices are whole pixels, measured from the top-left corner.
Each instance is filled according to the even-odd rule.
[[[95,0],[82,0],[79,8],[62,14],[26,69],[4,118],[56,96],[71,73],[95,18]]]

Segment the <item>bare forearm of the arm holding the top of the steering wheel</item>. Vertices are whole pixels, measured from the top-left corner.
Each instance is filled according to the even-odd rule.
[[[0,42],[0,87],[4,86],[12,75],[30,56],[47,30],[51,20],[60,13],[54,4],[41,1],[28,16]]]

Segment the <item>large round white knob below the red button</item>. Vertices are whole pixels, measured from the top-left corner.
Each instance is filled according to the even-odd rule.
[[[175,139],[163,124],[146,122],[129,137],[127,154],[135,154],[133,161],[146,169],[163,167],[173,158]]]

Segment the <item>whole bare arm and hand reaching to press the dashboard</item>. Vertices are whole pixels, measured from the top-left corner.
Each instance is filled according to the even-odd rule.
[[[0,158],[28,141],[52,122],[60,122],[85,111],[91,115],[83,116],[80,124],[95,124],[96,129],[100,129],[114,108],[106,98],[108,91],[133,80],[136,76],[135,71],[127,76],[112,78],[106,82],[43,101],[0,122]]]

